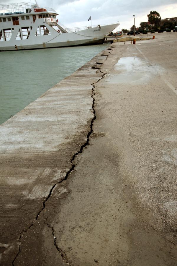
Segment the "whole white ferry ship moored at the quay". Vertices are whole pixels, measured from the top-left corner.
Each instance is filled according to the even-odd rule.
[[[0,51],[100,44],[119,23],[66,28],[52,8],[34,3],[0,5]]]

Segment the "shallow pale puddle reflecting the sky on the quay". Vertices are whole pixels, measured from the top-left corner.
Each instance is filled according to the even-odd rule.
[[[114,65],[118,73],[109,75],[107,80],[111,83],[145,82],[158,71],[157,67],[148,65],[148,62],[136,56],[127,56],[119,59]]]

